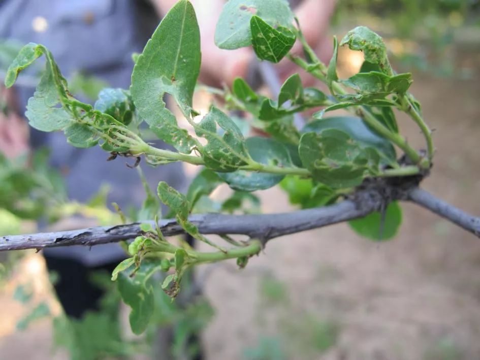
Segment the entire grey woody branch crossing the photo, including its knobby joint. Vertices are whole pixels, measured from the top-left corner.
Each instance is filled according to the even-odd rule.
[[[189,220],[198,226],[200,233],[204,235],[246,235],[251,239],[260,239],[265,244],[270,239],[283,235],[364,217],[373,211],[379,211],[393,200],[411,201],[480,237],[480,218],[437,199],[418,188],[414,180],[398,183],[395,178],[366,181],[349,199],[321,208],[278,214],[198,214],[190,216]],[[148,222],[154,225],[154,221]],[[160,220],[158,226],[165,236],[184,233],[174,219]],[[142,231],[140,223],[137,222],[56,233],[3,236],[0,237],[0,251],[71,245],[93,246],[130,240],[139,235],[142,235]]]

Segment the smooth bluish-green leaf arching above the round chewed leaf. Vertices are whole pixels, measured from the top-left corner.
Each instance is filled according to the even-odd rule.
[[[396,161],[397,155],[393,145],[387,139],[376,135],[359,117],[333,116],[313,120],[302,129],[302,133],[321,134],[327,129],[341,130],[357,141],[361,147],[375,148],[390,161]]]

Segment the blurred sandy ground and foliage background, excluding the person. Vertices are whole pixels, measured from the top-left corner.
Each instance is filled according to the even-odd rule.
[[[437,149],[423,186],[480,215],[480,4],[338,0],[325,36],[341,38],[357,25],[383,36],[398,72],[413,72],[411,92],[435,129]],[[37,19],[31,26],[42,30],[46,25]],[[18,50],[13,40],[0,39],[0,71]],[[341,49],[339,74],[355,74],[362,62],[361,53]],[[73,90],[96,99],[108,79],[74,70]],[[194,107],[206,108],[209,101],[199,93]],[[399,126],[411,143],[422,146],[409,119],[400,117]],[[68,222],[69,214],[86,217],[89,224],[118,222],[107,206],[115,201],[107,197],[107,184],[91,188],[86,203],[66,201],[61,169],[50,169],[45,153],[36,156],[34,161],[1,158],[0,235],[36,232],[35,219],[42,212],[62,220],[55,228],[77,224]],[[122,161],[117,165],[125,168]],[[197,169],[183,171],[191,177]],[[9,207],[13,198],[5,194],[11,192],[12,174],[17,182],[35,178],[21,190],[34,194],[22,208],[28,216]],[[222,187],[212,196],[225,198],[226,192]],[[258,195],[263,212],[295,210],[280,187]],[[52,198],[58,198],[55,206]],[[402,208],[401,230],[386,243],[361,239],[340,224],[271,241],[241,271],[234,263],[199,267],[205,299],[185,310],[160,294],[155,325],[175,324],[177,346],[201,330],[208,359],[480,358],[480,242],[420,208]],[[107,294],[103,312],[69,322],[50,284],[59,281],[58,274],[47,273],[41,254],[2,253],[0,258],[0,359],[148,358],[155,331],[132,335],[124,306],[121,333],[105,315],[118,304],[108,272],[93,279]]]

